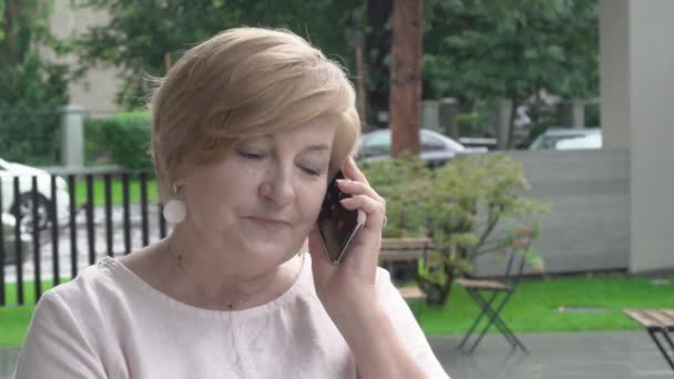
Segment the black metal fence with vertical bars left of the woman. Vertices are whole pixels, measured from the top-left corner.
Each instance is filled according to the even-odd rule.
[[[44,279],[57,286],[103,256],[125,255],[166,236],[162,205],[150,201],[150,172],[0,178],[0,306],[9,305],[10,295],[16,295],[12,305],[37,303],[49,289]],[[121,191],[114,203],[113,183]],[[94,184],[103,187],[102,204],[100,194],[94,198]],[[141,246],[132,246],[136,239]],[[27,288],[31,283],[33,288]],[[31,290],[34,296],[27,296]]]

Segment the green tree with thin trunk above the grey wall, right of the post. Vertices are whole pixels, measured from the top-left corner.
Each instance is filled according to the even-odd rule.
[[[508,99],[514,113],[543,91],[563,99],[599,92],[594,0],[448,0],[429,13],[425,75],[436,96]]]

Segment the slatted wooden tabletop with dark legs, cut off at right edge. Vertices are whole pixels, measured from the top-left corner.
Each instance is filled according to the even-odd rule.
[[[674,331],[674,309],[623,309],[623,313],[646,329],[674,370],[674,342],[670,335],[670,331]],[[668,346],[668,351],[663,341]]]

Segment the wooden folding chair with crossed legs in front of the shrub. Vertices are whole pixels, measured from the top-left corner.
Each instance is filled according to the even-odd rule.
[[[460,278],[455,280],[455,283],[466,289],[466,291],[472,297],[481,309],[480,314],[461,340],[461,344],[458,347],[459,350],[463,350],[468,355],[471,355],[491,325],[496,325],[513,349],[520,348],[525,354],[529,354],[529,350],[527,350],[524,345],[514,336],[512,330],[510,330],[499,314],[508,300],[510,300],[512,294],[514,294],[522,276],[522,272],[524,270],[524,256],[518,252],[527,250],[531,244],[531,239],[532,235],[529,232],[521,233],[514,239],[512,246],[509,248],[508,265],[506,267],[503,280],[487,280],[476,278]],[[473,334],[477,332],[478,325],[484,317],[487,317],[487,324],[483,326],[477,338],[473,339],[472,345],[468,345],[471,337],[474,336]],[[464,350],[464,348],[468,348],[468,350]]]

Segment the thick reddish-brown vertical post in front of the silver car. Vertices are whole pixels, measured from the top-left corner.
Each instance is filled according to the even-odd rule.
[[[389,111],[391,156],[419,154],[421,0],[394,0]]]

